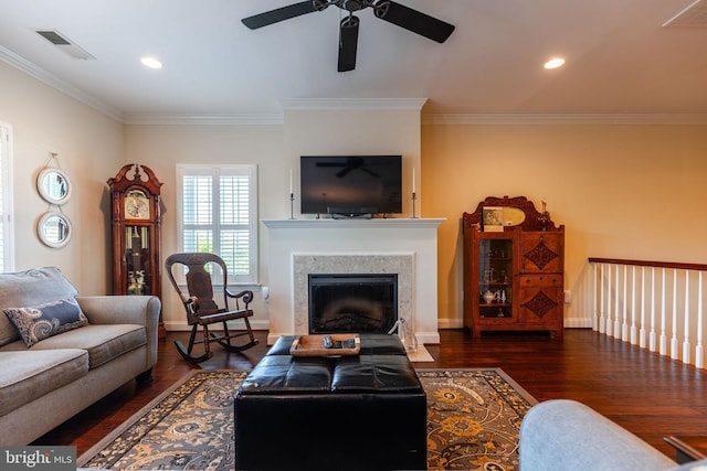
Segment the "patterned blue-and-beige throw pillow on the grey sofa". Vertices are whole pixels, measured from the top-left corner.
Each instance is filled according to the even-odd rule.
[[[29,308],[7,308],[4,313],[28,347],[52,335],[88,324],[88,319],[74,298]]]

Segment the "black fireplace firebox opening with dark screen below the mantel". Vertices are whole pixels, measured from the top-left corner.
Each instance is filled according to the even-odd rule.
[[[398,320],[398,275],[309,275],[309,333],[387,333]]]

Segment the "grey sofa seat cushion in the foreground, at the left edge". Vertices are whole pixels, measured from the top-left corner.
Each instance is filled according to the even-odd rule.
[[[0,416],[87,372],[88,353],[84,350],[0,352]]]

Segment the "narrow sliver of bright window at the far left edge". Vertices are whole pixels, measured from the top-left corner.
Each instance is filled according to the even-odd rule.
[[[0,272],[14,269],[10,126],[0,122]]]

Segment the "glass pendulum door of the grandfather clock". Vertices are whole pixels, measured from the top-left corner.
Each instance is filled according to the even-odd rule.
[[[125,226],[128,295],[149,295],[151,280],[150,227]]]

